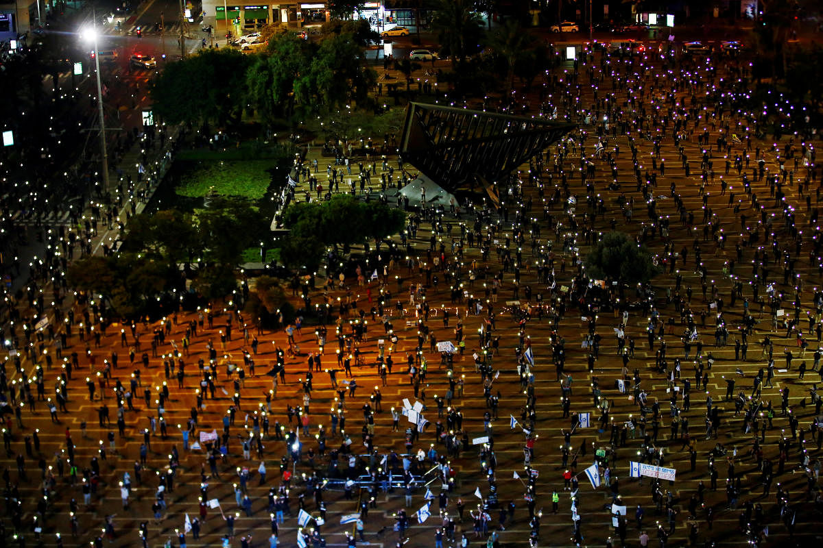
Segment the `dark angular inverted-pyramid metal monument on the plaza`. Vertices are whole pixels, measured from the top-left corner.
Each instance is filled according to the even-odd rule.
[[[575,127],[542,118],[410,103],[400,154],[446,191],[485,191],[499,205],[495,182]]]

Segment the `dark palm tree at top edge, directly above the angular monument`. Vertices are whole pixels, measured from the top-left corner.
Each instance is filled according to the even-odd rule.
[[[466,53],[483,36],[483,20],[472,11],[469,0],[438,0],[435,2],[432,26],[438,33],[440,44],[449,53],[452,66],[466,58]]]

